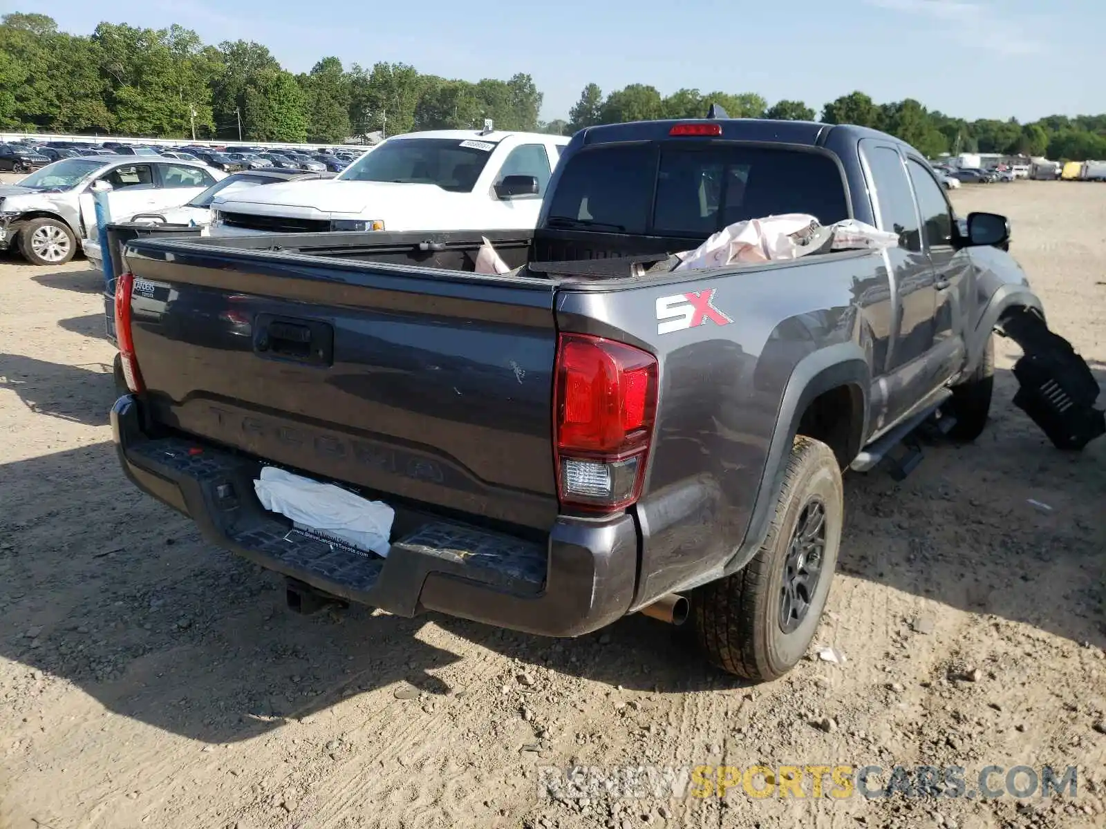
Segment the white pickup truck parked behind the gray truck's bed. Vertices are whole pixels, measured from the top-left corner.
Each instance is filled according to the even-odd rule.
[[[408,133],[333,179],[216,197],[211,235],[332,230],[529,230],[567,136]]]

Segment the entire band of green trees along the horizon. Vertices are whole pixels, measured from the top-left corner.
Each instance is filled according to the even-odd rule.
[[[801,101],[769,105],[752,93],[647,84],[607,94],[588,84],[567,120],[542,123],[542,93],[526,74],[477,83],[424,75],[403,63],[372,67],[323,57],[293,74],[259,44],[205,44],[179,25],[138,29],[101,23],[91,35],[61,32],[45,14],[0,18],[0,128],[119,133],[157,137],[337,143],[383,130],[477,127],[571,134],[595,124],[701,117],[716,103],[734,117],[858,124],[883,129],[929,157],[1003,153],[1056,159],[1106,159],[1106,115],[966,120],[918,101],[877,104],[853,92],[821,114]]]

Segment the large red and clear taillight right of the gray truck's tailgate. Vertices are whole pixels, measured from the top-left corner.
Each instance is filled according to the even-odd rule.
[[[561,503],[620,510],[641,494],[657,412],[657,359],[586,334],[562,334],[554,387]]]

